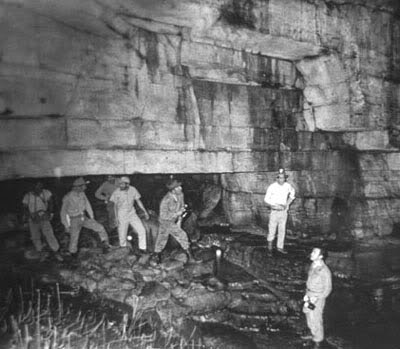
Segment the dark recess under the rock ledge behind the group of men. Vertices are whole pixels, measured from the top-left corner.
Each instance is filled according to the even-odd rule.
[[[182,182],[185,203],[188,205],[189,210],[196,217],[202,216],[204,221],[207,221],[210,215],[224,217],[221,195],[214,200],[210,200],[208,197],[212,195],[212,191],[209,190],[210,187],[222,190],[220,176],[220,174],[174,174],[174,178]],[[52,224],[54,230],[62,234],[63,227],[59,215],[62,198],[71,190],[72,183],[76,178],[20,178],[0,182],[0,192],[2,193],[0,200],[0,234],[28,230],[27,222],[23,221],[22,199],[38,181],[42,182],[44,188],[50,190],[53,194],[55,216]],[[141,200],[146,209],[151,211],[154,216],[158,216],[159,204],[167,192],[165,184],[170,178],[170,174],[133,174],[129,175],[129,178],[131,185],[140,192]],[[95,218],[110,233],[110,229],[107,227],[106,205],[95,197],[96,190],[107,179],[107,175],[88,175],[85,176],[85,179],[90,182],[87,185],[86,195],[92,205]],[[29,234],[25,235],[28,236]]]

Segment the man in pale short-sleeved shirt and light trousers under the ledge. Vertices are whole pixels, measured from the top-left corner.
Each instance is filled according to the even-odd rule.
[[[146,220],[149,219],[149,214],[140,200],[140,193],[135,187],[129,184],[130,180],[128,177],[121,177],[119,180],[119,188],[115,190],[110,197],[110,201],[114,203],[115,217],[117,218],[119,245],[121,247],[126,247],[126,236],[129,225],[131,225],[138,234],[139,250],[141,252],[146,252],[146,229],[136,213],[135,202],[144,212]]]

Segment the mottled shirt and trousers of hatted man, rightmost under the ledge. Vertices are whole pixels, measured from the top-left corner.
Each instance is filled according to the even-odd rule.
[[[168,192],[160,203],[160,227],[154,252],[159,253],[168,242],[168,237],[172,235],[175,240],[186,251],[189,249],[189,239],[186,232],[175,222],[177,214],[184,207],[184,197]]]

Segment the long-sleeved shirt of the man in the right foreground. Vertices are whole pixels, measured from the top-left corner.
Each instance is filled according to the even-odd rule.
[[[314,262],[308,271],[307,295],[326,298],[332,291],[332,274],[323,262]]]

